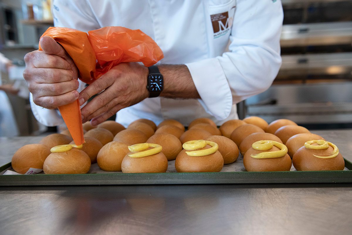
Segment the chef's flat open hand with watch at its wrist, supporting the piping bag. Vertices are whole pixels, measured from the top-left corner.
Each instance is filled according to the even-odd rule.
[[[147,76],[148,68],[133,62],[120,63],[110,69],[81,91],[81,105],[101,92],[81,109],[82,122],[92,119],[92,125],[98,125],[120,109],[147,98]]]

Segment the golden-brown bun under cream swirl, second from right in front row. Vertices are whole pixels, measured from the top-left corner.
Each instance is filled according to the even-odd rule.
[[[292,161],[288,154],[283,157],[267,159],[255,159],[251,157],[251,154],[278,150],[279,148],[276,146],[266,151],[250,148],[243,157],[243,165],[247,171],[289,171],[292,166]]]

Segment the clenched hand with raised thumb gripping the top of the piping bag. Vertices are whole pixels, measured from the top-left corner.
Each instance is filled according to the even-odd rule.
[[[23,77],[33,94],[33,102],[46,109],[72,103],[78,98],[78,70],[67,54],[49,36],[40,39],[43,51],[32,51],[25,55],[26,69]]]

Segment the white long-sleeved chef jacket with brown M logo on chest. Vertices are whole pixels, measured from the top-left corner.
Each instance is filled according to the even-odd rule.
[[[268,89],[281,66],[279,0],[54,0],[53,15],[55,26],[85,32],[140,29],[162,49],[158,63],[188,67],[201,99],[144,99],[117,113],[125,126],[139,118],[186,126],[198,117],[236,119],[236,104]],[[57,111],[31,106],[42,124],[63,122]]]

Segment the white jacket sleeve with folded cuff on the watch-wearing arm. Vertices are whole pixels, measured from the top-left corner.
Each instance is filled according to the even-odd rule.
[[[200,102],[216,119],[228,117],[233,104],[270,87],[281,66],[280,1],[237,0],[230,52],[186,64]]]

